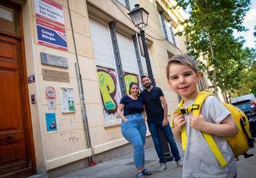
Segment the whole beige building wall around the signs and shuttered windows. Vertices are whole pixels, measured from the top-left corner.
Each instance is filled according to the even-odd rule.
[[[28,88],[30,95],[36,94],[36,104],[31,104],[30,108],[32,110],[36,166],[38,169],[57,168],[64,164],[86,158],[92,155],[92,151],[94,154],[97,154],[127,144],[127,141],[122,137],[119,125],[106,127],[104,124],[96,63],[93,57],[92,39],[90,38],[87,6],[90,4],[90,6],[98,10],[90,15],[106,23],[116,20],[117,27],[122,29],[128,36],[131,36],[139,31],[134,27],[129,15],[127,15],[129,10],[116,1],[111,0],[69,1],[74,38],[82,75],[83,92],[85,94],[88,126],[92,140],[92,150],[90,150],[88,149],[85,129],[83,127],[83,118],[80,111],[79,90],[75,73],[75,63],[77,63],[77,59],[75,56],[74,39],[71,31],[67,1],[56,0],[56,2],[64,9],[68,43],[67,52],[38,44],[34,1],[28,0],[23,5],[27,73],[28,75],[35,74],[36,78],[36,82],[28,84]],[[181,51],[164,39],[156,2],[162,4],[164,6],[163,8],[166,9],[166,13],[170,14],[172,17],[173,14],[168,11],[170,6],[169,1],[140,0],[140,5],[150,13],[148,26],[145,30],[146,37],[148,41],[151,42],[148,48],[153,63],[153,70],[155,71],[156,83],[164,91],[169,106],[169,114],[176,108],[177,95],[169,89],[166,83],[165,66],[168,62],[168,52],[171,54],[180,54],[181,51],[186,51],[186,47],[182,41],[184,38],[178,39]],[[176,13],[174,20],[177,20],[176,18],[181,18],[179,13]],[[66,57],[68,59],[69,68],[42,65],[40,52]],[[69,72],[70,83],[44,81],[42,79],[42,68]],[[45,89],[47,86],[53,86],[56,91],[56,110],[48,110],[45,97]],[[62,113],[59,87],[72,87],[74,89],[75,113]],[[57,131],[48,132],[46,130],[45,113],[56,113]],[[147,135],[149,135],[149,132],[147,132]]]

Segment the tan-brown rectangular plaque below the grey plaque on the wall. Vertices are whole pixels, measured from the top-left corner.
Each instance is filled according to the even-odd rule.
[[[69,73],[66,71],[42,68],[43,80],[69,83]]]

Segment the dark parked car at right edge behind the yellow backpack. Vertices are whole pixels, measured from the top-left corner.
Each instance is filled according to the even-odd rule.
[[[249,119],[250,133],[252,134],[252,137],[256,137],[256,103],[254,100],[242,100],[232,104],[244,111]]]

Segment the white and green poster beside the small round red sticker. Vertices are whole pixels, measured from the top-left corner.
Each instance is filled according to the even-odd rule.
[[[62,113],[74,113],[74,91],[72,87],[60,87]]]

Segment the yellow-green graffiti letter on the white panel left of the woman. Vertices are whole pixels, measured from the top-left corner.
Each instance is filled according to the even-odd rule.
[[[117,115],[117,107],[121,100],[121,92],[117,82],[116,70],[97,67],[105,125],[119,124],[121,118]]]

